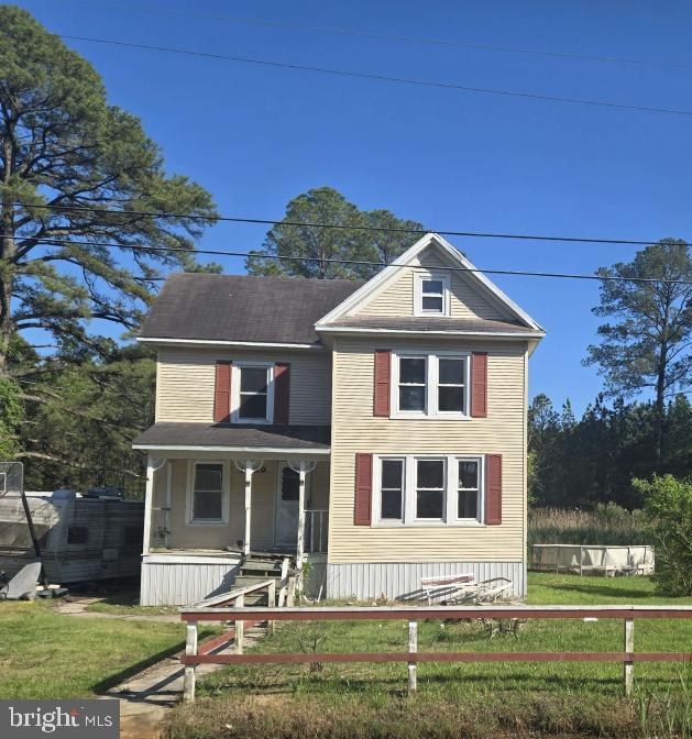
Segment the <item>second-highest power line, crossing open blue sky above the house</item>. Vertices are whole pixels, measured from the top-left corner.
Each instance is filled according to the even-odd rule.
[[[578,106],[590,106],[596,108],[613,108],[617,110],[628,110],[645,113],[666,113],[670,115],[685,115],[691,117],[692,110],[683,110],[675,108],[656,108],[652,106],[634,106],[620,102],[613,102],[607,100],[589,100],[585,98],[565,98],[552,95],[539,95],[535,92],[519,92],[516,90],[504,90],[490,87],[471,87],[466,85],[458,85],[455,82],[439,82],[427,79],[415,79],[413,77],[397,77],[393,75],[380,75],[367,71],[353,71],[351,69],[333,69],[330,67],[318,67],[306,64],[292,64],[288,62],[273,62],[271,59],[257,59],[245,56],[227,56],[226,54],[212,54],[210,52],[197,52],[188,48],[177,48],[174,46],[155,46],[152,44],[135,44],[127,41],[114,41],[110,38],[94,38],[90,36],[73,36],[66,34],[57,34],[61,38],[69,41],[86,41],[94,44],[109,44],[111,46],[120,46],[124,48],[139,48],[150,52],[164,52],[167,54],[185,54],[188,56],[197,56],[207,59],[218,59],[223,62],[235,62],[241,64],[254,64],[263,67],[277,67],[282,69],[293,69],[297,71],[314,71],[322,75],[332,75],[339,77],[351,77],[358,79],[372,79],[382,82],[397,82],[400,85],[416,85],[418,87],[433,87],[447,90],[457,90],[460,92],[473,92],[480,95],[494,95],[512,98],[523,98],[529,100],[541,100],[543,102],[564,102]]]

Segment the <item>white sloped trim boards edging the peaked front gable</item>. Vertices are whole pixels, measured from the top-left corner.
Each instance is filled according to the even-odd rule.
[[[396,279],[400,274],[402,268],[406,265],[410,265],[414,260],[429,246],[437,247],[438,251],[447,257],[447,261],[452,265],[450,266],[451,269],[459,269],[460,273],[463,273],[469,279],[474,280],[476,287],[492,300],[503,305],[508,311],[508,315],[514,318],[518,326],[524,327],[524,329],[529,332],[536,332],[540,335],[545,333],[543,328],[537,321],[535,321],[525,310],[519,308],[514,300],[505,295],[505,293],[503,293],[497,285],[491,282],[482,272],[479,272],[461,252],[449,243],[449,241],[437,233],[427,233],[419,239],[413,246],[392,262],[389,266],[377,273],[372,279],[347,297],[341,305],[336,306],[333,310],[323,316],[317,323],[316,329],[320,331],[328,330],[330,327],[341,327],[347,317],[351,318],[350,312],[355,307],[363,304],[365,300],[372,299],[375,295],[384,290],[387,285]],[[487,323],[487,321],[483,322]],[[493,322],[494,321],[490,321],[490,323]],[[449,324],[448,328],[451,330],[451,324]],[[490,330],[491,327],[486,327],[486,332],[493,332]]]

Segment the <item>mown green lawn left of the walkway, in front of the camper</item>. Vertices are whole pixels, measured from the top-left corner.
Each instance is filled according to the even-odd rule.
[[[185,643],[182,624],[77,618],[55,607],[0,603],[0,698],[101,693]]]

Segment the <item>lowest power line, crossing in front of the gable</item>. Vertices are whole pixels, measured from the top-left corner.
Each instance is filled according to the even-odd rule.
[[[31,238],[29,238],[31,240]],[[69,239],[48,239],[40,238],[35,239],[36,242],[46,244],[46,245],[69,245],[69,246],[103,246],[109,249],[134,249],[142,252],[185,252],[186,254],[208,254],[211,256],[242,256],[242,257],[257,257],[261,260],[277,260],[285,262],[323,262],[327,264],[349,264],[353,266],[364,266],[364,267],[396,267],[400,269],[425,269],[419,265],[415,264],[387,264],[386,262],[372,262],[367,260],[341,260],[341,258],[316,258],[311,256],[290,256],[283,254],[257,254],[251,252],[235,252],[235,251],[226,251],[217,249],[184,249],[183,246],[149,246],[144,244],[111,244],[109,242],[99,242],[99,241],[72,241]],[[518,277],[552,277],[559,279],[590,279],[597,282],[619,282],[619,283],[641,283],[641,284],[664,284],[664,285],[692,285],[692,280],[683,279],[657,279],[655,277],[620,277],[615,275],[585,275],[576,273],[565,273],[565,272],[528,272],[520,269],[484,269],[481,267],[447,267],[440,266],[435,267],[436,271],[444,272],[470,272],[470,273],[484,273],[487,275],[510,275]],[[146,278],[144,278],[146,279]]]

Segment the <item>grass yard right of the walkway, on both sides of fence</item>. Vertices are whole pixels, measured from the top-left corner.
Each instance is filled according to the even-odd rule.
[[[532,604],[691,604],[656,597],[642,577],[603,578],[531,573]],[[286,625],[257,651],[406,651],[397,621]],[[488,639],[477,621],[421,622],[419,651],[619,651],[619,620],[529,621],[518,638]],[[692,620],[637,620],[639,651],[690,651]],[[622,665],[487,663],[418,665],[418,694],[406,695],[406,664],[256,665],[224,668],[201,681],[201,699],[174,713],[172,739],[212,737],[504,737],[647,736],[657,716],[674,710],[692,726],[692,681],[681,664],[637,664],[638,698],[623,698]],[[686,686],[686,694],[684,690]],[[651,694],[655,697],[650,697]],[[648,703],[647,703],[648,702]],[[670,706],[668,705],[670,704]],[[648,706],[648,707],[647,707]],[[642,716],[648,712],[648,718]],[[653,735],[651,735],[653,736]],[[660,736],[691,736],[690,734]]]

